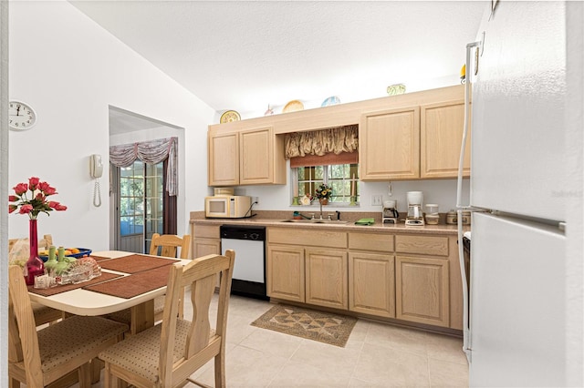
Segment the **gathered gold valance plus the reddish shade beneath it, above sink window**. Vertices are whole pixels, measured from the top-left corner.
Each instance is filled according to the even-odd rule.
[[[287,133],[286,158],[290,166],[357,163],[359,126],[350,125],[316,131]],[[348,157],[348,158],[346,158]],[[339,159],[338,163],[331,160]]]

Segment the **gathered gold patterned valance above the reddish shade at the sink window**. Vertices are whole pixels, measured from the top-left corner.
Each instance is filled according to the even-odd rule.
[[[317,131],[287,133],[285,139],[286,158],[308,155],[324,156],[355,152],[359,146],[358,126],[320,129]]]

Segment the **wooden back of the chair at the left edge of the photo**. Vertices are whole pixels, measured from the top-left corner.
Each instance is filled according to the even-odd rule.
[[[9,320],[11,321],[9,341],[12,342],[9,347],[13,355],[21,356],[25,363],[26,382],[31,387],[42,387],[43,372],[38,349],[35,315],[22,269],[17,265],[11,265],[8,269],[8,295]],[[10,316],[10,314],[12,315]],[[19,344],[16,343],[16,338],[19,339]],[[20,351],[22,353],[19,355]]]

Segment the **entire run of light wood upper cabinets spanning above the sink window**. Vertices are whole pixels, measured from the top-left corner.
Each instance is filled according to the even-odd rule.
[[[361,180],[456,178],[462,85],[210,125],[208,184],[286,184],[286,133],[358,123]]]

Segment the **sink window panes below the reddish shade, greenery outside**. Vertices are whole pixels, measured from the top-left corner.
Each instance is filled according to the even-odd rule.
[[[292,168],[293,196],[297,191],[298,197],[308,194],[312,197],[321,183],[332,188],[332,197],[329,203],[335,205],[349,205],[351,191],[359,203],[359,164],[337,164],[324,166],[306,166]]]

